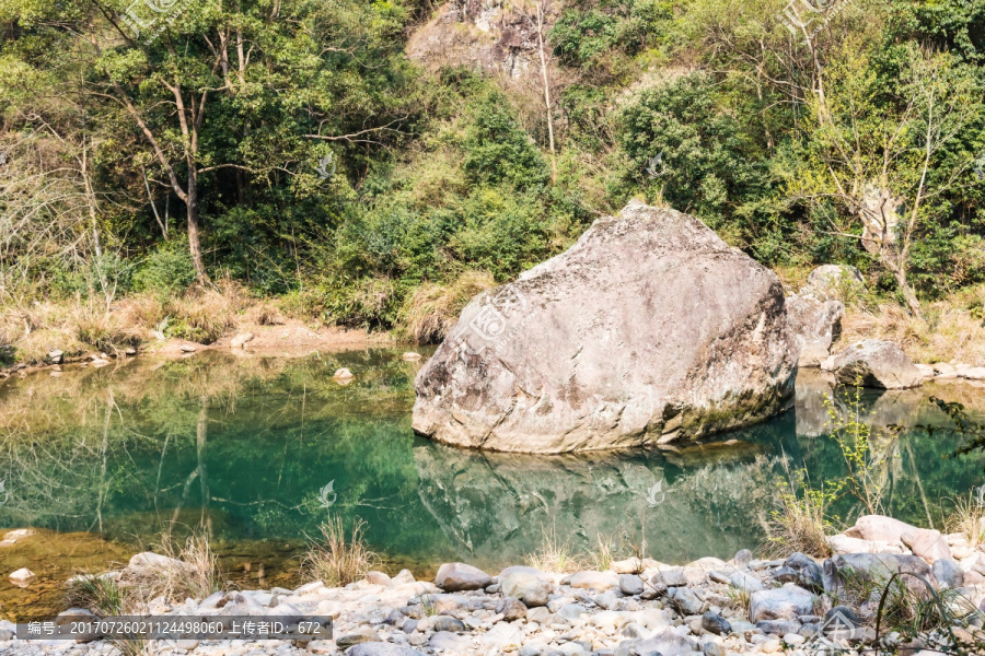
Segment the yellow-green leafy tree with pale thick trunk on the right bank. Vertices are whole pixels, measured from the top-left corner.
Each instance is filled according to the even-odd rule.
[[[879,63],[893,67],[889,81]],[[981,115],[974,80],[950,55],[919,46],[874,62],[849,45],[830,69],[827,93],[810,102],[807,168],[788,190],[831,234],[876,256],[919,317],[911,256],[924,226],[946,220],[947,194],[967,180],[974,155],[955,145]]]

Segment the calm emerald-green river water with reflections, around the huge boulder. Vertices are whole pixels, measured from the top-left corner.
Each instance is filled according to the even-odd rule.
[[[211,352],[7,382],[0,526],[54,532],[0,547],[0,614],[55,608],[57,582],[125,561],[169,527],[208,531],[239,585],[290,586],[305,537],[329,513],[366,519],[391,567],[418,575],[449,560],[494,571],[521,562],[545,528],[571,536],[576,549],[625,535],[645,537],[664,562],[730,558],[760,544],[785,456],[812,481],[843,473],[825,427],[833,386],[816,373],[798,380],[793,412],[726,442],[545,457],[415,437],[419,364],[399,355]],[[340,366],[354,372],[352,384],[332,379]],[[985,406],[982,389],[966,385],[867,394],[864,405],[876,424],[904,427],[887,447],[895,455],[884,472],[889,509],[939,528],[947,497],[985,481],[982,458],[946,460],[952,441],[911,427],[942,420],[929,394]],[[844,399],[836,407],[848,409]],[[837,509],[858,513],[847,502]],[[19,566],[39,575],[26,590],[5,577]]]

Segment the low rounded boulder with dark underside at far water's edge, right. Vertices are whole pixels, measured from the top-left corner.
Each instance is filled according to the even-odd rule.
[[[891,341],[865,339],[832,359],[835,378],[843,385],[860,380],[862,387],[906,389],[924,383],[924,375],[909,356]]]

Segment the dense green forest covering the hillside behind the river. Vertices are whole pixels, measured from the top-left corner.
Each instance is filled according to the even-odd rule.
[[[230,284],[432,340],[630,198],[980,320],[983,62],[985,0],[0,0],[0,345]]]

